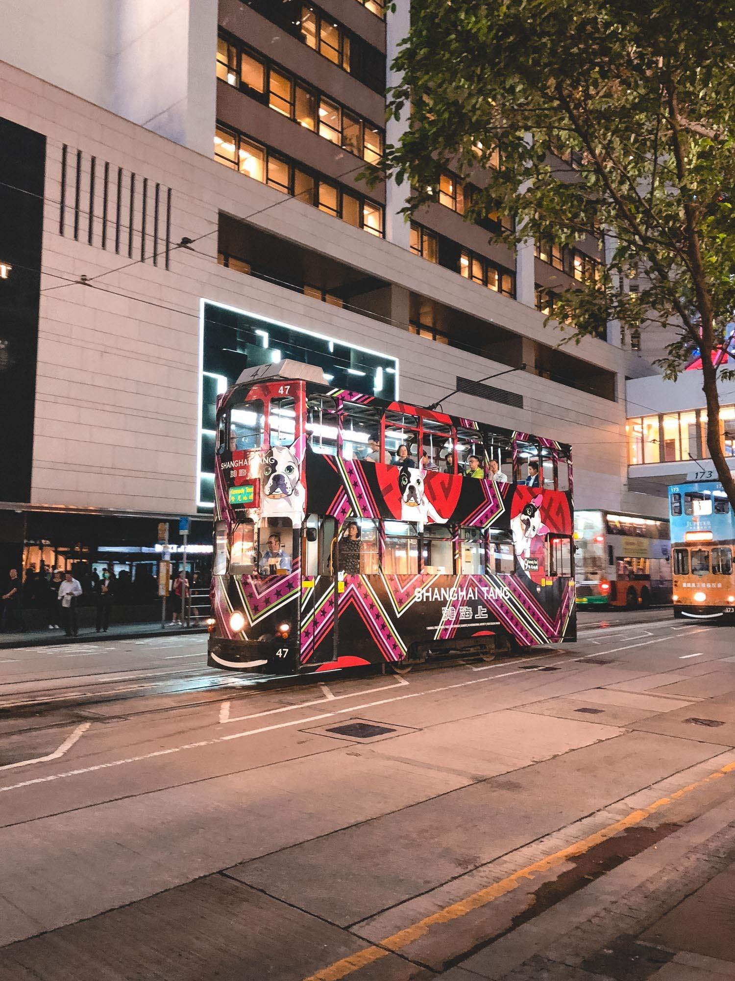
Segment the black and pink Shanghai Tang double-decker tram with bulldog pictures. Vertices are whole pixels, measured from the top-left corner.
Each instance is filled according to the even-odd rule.
[[[576,639],[569,447],[283,361],[218,398],[209,663],[397,670]]]

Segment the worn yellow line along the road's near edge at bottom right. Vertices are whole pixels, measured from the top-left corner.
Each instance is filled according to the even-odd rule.
[[[358,951],[357,954],[336,960],[333,964],[329,964],[328,967],[317,971],[316,974],[310,974],[308,978],[304,978],[304,981],[340,981],[341,978],[345,978],[349,974],[359,971],[362,967],[367,967],[368,964],[373,963],[375,960],[380,960],[382,957],[387,957],[394,951],[400,951],[410,944],[416,943],[417,940],[420,940],[421,937],[424,937],[429,932],[431,927],[438,923],[451,923],[452,920],[466,916],[467,913],[472,912],[474,909],[479,909],[481,906],[492,903],[507,893],[512,893],[523,880],[533,879],[538,873],[548,872],[549,869],[563,864],[569,858],[589,852],[596,845],[600,845],[609,838],[613,838],[614,835],[624,831],[626,828],[640,824],[641,821],[650,817],[651,814],[654,814],[667,804],[686,797],[687,794],[699,790],[700,787],[704,787],[705,784],[709,784],[713,780],[720,780],[733,770],[735,770],[735,762],[727,763],[719,770],[715,770],[707,777],[703,777],[702,780],[689,784],[687,787],[682,787],[681,790],[675,791],[668,797],[655,800],[648,807],[641,807],[639,810],[632,811],[619,821],[609,824],[607,828],[596,831],[593,835],[583,838],[574,845],[567,846],[560,852],[554,852],[554,854],[548,855],[546,858],[541,858],[530,865],[526,865],[505,879],[501,879],[500,882],[496,882],[492,886],[487,886],[485,889],[480,889],[478,892],[472,893],[471,896],[467,896],[465,900],[460,900],[459,903],[453,903],[445,906],[444,909],[439,909],[437,912],[431,913],[430,916],[424,916],[417,923],[406,927],[405,930],[399,930],[398,933],[394,933],[384,940],[378,941],[377,944],[367,947],[364,951]]]

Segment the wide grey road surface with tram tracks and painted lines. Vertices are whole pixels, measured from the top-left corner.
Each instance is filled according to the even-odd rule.
[[[583,616],[275,688],[0,651],[0,979],[735,976],[735,628]]]

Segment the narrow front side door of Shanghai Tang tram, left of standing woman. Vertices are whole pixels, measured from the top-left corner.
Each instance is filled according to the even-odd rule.
[[[301,663],[337,657],[337,522],[310,514],[303,528]]]

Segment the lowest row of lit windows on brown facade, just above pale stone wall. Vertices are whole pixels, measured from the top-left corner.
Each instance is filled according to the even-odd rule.
[[[242,133],[218,126],[215,159],[230,170],[239,170],[256,181],[316,205],[319,211],[341,218],[348,225],[383,237],[382,205],[358,191],[348,192],[334,181],[298,167]]]

